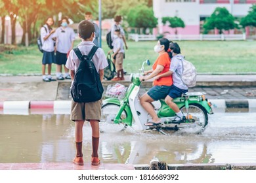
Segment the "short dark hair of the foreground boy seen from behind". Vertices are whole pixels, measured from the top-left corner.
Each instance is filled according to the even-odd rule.
[[[89,39],[95,32],[95,25],[88,20],[83,20],[78,25],[78,33],[82,39]]]

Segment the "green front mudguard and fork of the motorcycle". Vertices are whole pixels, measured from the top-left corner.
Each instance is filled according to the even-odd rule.
[[[114,105],[119,105],[120,106],[120,110],[121,110],[121,103],[120,103],[119,99],[108,98],[108,99],[104,99],[104,101],[102,101],[102,105],[105,105],[107,103],[114,104]],[[133,115],[131,114],[131,109],[129,108],[129,106],[125,105],[124,110],[125,110],[125,112],[127,114],[127,118],[121,120],[121,122],[131,126],[132,122],[133,122]],[[122,111],[119,111],[119,112],[122,112]],[[119,112],[117,112],[117,113],[119,113]]]

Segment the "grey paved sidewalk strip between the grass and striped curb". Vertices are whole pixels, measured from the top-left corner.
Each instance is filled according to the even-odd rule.
[[[104,87],[116,82],[105,81]],[[129,86],[129,75],[119,83]],[[0,101],[70,100],[71,81],[43,82],[41,76],[0,76]],[[152,80],[142,83],[142,92]],[[208,99],[256,99],[256,75],[198,75],[189,92],[205,92]]]

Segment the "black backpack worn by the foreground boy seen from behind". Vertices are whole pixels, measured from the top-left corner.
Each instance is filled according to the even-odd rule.
[[[93,46],[88,56],[82,55],[78,48],[73,49],[81,61],[75,72],[75,78],[71,88],[72,98],[77,103],[89,103],[102,98],[104,89],[100,81],[100,76],[91,60],[97,49],[97,46]]]

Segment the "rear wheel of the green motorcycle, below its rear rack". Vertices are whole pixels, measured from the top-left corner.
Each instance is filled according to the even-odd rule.
[[[181,111],[186,116],[186,107],[182,107]],[[188,106],[188,118],[192,118],[192,123],[184,124],[184,127],[197,127],[199,129],[203,129],[208,124],[208,116],[205,109],[202,105],[198,105],[196,103],[190,104]]]

